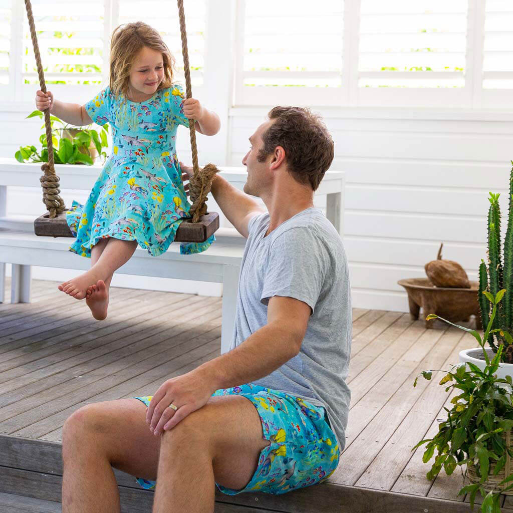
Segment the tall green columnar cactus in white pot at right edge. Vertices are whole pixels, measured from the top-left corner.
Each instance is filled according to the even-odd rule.
[[[513,164],[513,161],[511,162]],[[501,289],[506,289],[504,302],[497,309],[492,330],[487,342],[497,353],[499,345],[504,345],[501,361],[513,363],[513,340],[504,335],[513,331],[513,208],[511,205],[513,194],[513,168],[509,174],[509,212],[507,219],[504,245],[501,245],[501,210],[499,207],[500,194],[490,192],[488,201],[488,258],[483,260],[479,267],[479,305],[483,326],[490,319],[490,305],[483,297],[482,292],[490,292],[495,296]]]

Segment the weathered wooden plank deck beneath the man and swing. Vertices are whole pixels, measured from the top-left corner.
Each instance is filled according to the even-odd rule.
[[[220,351],[220,298],[112,289],[109,318],[97,322],[55,287],[34,281],[32,304],[0,305],[0,505],[5,494],[60,500],[60,442],[71,412],[151,394]],[[436,432],[449,400],[437,376],[416,388],[413,380],[457,362],[474,345],[462,333],[442,324],[426,330],[409,314],[353,309],[351,409],[336,472],[282,496],[218,492],[215,511],[469,511],[457,497],[461,473],[428,481],[422,450],[411,452]],[[152,492],[121,472],[116,477],[123,511],[151,510]],[[513,501],[503,510],[513,511]]]

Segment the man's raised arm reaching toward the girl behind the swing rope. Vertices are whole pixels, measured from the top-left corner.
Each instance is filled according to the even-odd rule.
[[[182,163],[180,163],[180,167],[185,173],[182,175],[182,179],[188,180],[188,177],[192,176],[192,167]],[[188,190],[187,186],[186,190]],[[262,207],[251,196],[233,187],[219,174],[214,176],[210,190],[228,221],[247,239],[248,223],[254,215],[264,212]]]

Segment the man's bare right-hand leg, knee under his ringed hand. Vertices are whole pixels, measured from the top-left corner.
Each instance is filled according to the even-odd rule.
[[[162,435],[153,513],[212,513],[214,480],[227,488],[244,488],[269,443],[250,401],[211,398]]]

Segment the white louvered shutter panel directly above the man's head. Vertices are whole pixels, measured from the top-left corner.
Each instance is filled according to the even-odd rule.
[[[238,9],[235,103],[340,97],[342,0],[245,0]]]

